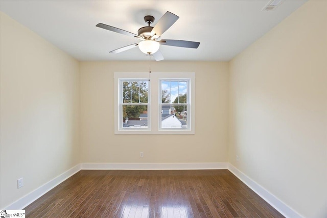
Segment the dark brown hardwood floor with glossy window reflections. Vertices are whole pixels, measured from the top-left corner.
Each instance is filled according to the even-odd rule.
[[[80,171],[27,217],[284,217],[227,169]]]

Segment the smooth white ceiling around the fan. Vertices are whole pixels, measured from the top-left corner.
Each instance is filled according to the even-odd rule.
[[[160,45],[165,60],[229,61],[306,1],[283,1],[262,11],[256,1],[0,1],[0,10],[80,61],[148,60],[139,49],[109,51],[139,40],[111,32],[99,22],[137,34],[166,12],[179,16],[161,39],[198,41],[198,49]],[[1,29],[0,29],[1,30]]]

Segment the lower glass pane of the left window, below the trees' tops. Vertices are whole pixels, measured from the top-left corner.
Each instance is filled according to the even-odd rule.
[[[147,128],[148,106],[123,105],[123,128]]]

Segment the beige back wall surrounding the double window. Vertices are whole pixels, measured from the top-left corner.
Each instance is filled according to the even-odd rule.
[[[81,146],[84,163],[227,161],[228,63],[153,62],[151,74],[196,72],[195,135],[114,135],[114,72],[147,71],[148,62],[83,62]],[[139,152],[144,157],[139,157]]]

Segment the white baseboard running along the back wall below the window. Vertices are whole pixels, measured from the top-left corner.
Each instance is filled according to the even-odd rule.
[[[82,163],[81,169],[227,169],[228,163]]]

